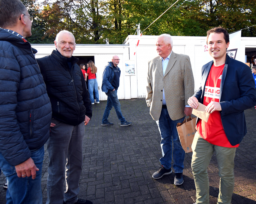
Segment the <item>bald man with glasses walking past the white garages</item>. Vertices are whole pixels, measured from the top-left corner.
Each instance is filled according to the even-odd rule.
[[[118,119],[121,121],[121,126],[128,126],[132,124],[131,122],[126,121],[123,117],[121,112],[121,104],[117,98],[117,89],[119,87],[119,78],[121,75],[121,70],[117,66],[119,62],[119,57],[114,55],[112,57],[112,62],[108,62],[108,65],[103,71],[101,90],[106,93],[108,100],[102,118],[102,126],[114,125],[108,121],[108,116],[113,106]]]

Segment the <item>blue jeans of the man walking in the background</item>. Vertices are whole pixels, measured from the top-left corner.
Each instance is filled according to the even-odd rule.
[[[108,121],[108,116],[113,106],[115,108],[115,112],[117,114],[118,119],[121,121],[121,123],[124,123],[125,118],[123,117],[121,112],[121,104],[117,98],[117,90],[115,91],[108,90],[108,93],[106,93],[106,95],[108,96],[108,100],[107,100],[107,105],[102,117],[102,124]]]

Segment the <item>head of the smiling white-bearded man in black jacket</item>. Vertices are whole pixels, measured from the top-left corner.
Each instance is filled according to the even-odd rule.
[[[60,31],[54,41],[57,51],[61,53],[62,56],[70,58],[75,50],[76,43],[74,35],[66,30]]]

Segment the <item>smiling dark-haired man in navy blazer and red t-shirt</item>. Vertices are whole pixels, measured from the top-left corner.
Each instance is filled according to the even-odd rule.
[[[250,68],[226,54],[229,35],[224,28],[207,31],[207,44],[213,61],[203,66],[200,88],[188,100],[195,109],[200,101],[210,113],[208,122],[197,118],[192,144],[196,203],[209,203],[207,166],[215,150],[220,176],[217,203],[230,204],[236,147],[247,133],[244,110],[255,106],[256,90]]]

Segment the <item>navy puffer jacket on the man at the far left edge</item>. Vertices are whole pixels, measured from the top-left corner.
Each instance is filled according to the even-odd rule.
[[[31,45],[0,28],[0,152],[11,166],[49,138],[51,104]]]

